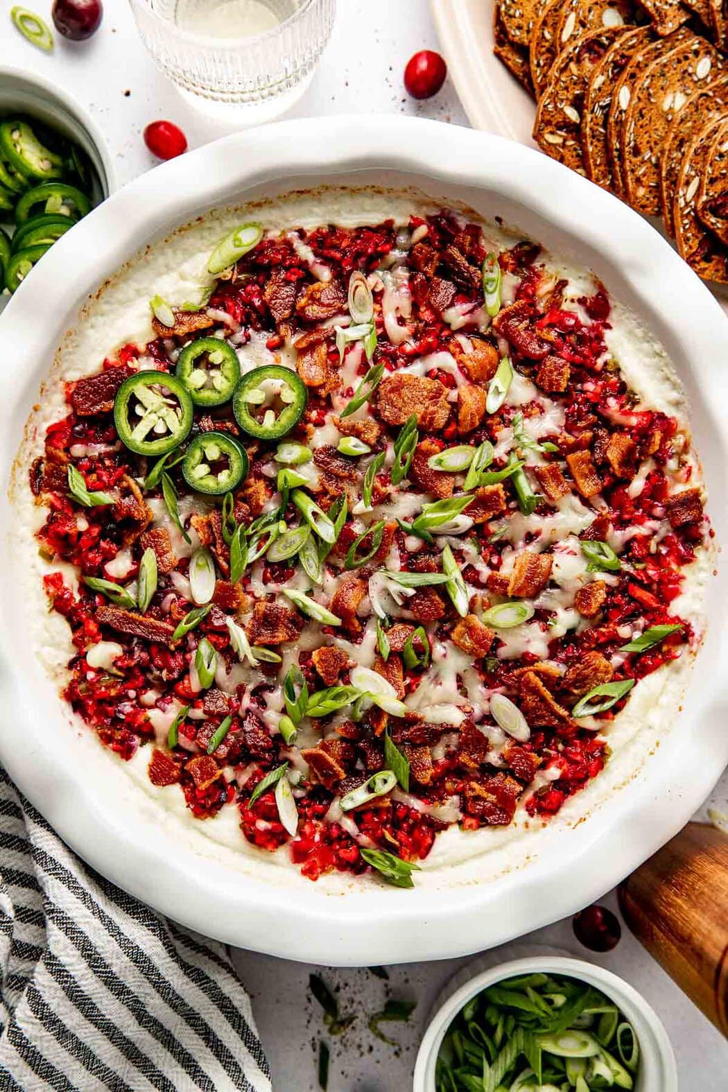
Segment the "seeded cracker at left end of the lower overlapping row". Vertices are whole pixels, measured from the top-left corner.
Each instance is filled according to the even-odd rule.
[[[590,31],[570,41],[559,54],[538,100],[534,140],[551,158],[580,175],[586,175],[582,150],[584,94],[594,69],[624,33],[623,26],[616,26]]]

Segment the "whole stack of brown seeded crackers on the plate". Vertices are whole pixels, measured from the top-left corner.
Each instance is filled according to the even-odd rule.
[[[728,284],[724,0],[496,0],[496,55],[536,98],[534,139]]]

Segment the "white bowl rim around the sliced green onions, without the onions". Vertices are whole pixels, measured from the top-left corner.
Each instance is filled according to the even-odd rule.
[[[503,978],[537,971],[578,978],[607,994],[619,1006],[634,1028],[640,1043],[641,1061],[634,1092],[678,1092],[678,1069],[670,1041],[657,1013],[644,997],[611,971],[563,956],[532,956],[499,963],[455,989],[440,1005],[425,1033],[415,1064],[414,1092],[435,1092],[434,1069],[445,1032],[472,997]],[[462,972],[456,978],[461,977]]]

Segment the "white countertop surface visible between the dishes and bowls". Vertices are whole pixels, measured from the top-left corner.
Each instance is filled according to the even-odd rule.
[[[484,0],[486,2],[486,0]],[[226,130],[200,117],[178,96],[147,58],[124,0],[106,0],[102,31],[79,45],[62,39],[48,57],[26,44],[0,13],[0,56],[3,61],[34,69],[62,84],[93,111],[116,153],[123,183],[155,163],[142,141],[142,130],[158,118],[177,122],[190,146],[206,143]],[[33,0],[44,16],[49,0]],[[339,0],[332,40],[310,88],[294,116],[325,114],[414,114],[455,124],[467,124],[447,82],[434,98],[416,103],[402,86],[402,72],[417,49],[437,49],[427,0]],[[728,775],[712,802],[728,811]],[[604,902],[616,910],[613,892]],[[295,907],[293,909],[295,913]],[[275,922],[271,923],[275,928]],[[549,945],[570,949],[608,966],[632,983],[661,1017],[672,1041],[680,1070],[681,1092],[725,1092],[728,1088],[728,1043],[695,1009],[671,980],[625,929],[608,956],[592,956],[575,940],[571,922],[541,929],[517,945]],[[487,938],[484,937],[484,947]],[[413,963],[390,969],[389,984],[366,969],[331,971],[238,951],[236,964],[251,993],[258,1026],[267,1051],[276,1092],[314,1092],[318,1042],[323,1032],[321,1009],[308,997],[308,976],[321,973],[339,989],[342,1011],[357,1019],[341,1038],[330,1040],[330,1092],[405,1092],[428,1011],[449,977],[467,960]],[[367,1029],[368,1016],[383,1005],[386,988],[395,997],[417,999],[407,1024],[390,1024],[398,1038],[394,1052]],[[223,1092],[223,1090],[220,1090]]]

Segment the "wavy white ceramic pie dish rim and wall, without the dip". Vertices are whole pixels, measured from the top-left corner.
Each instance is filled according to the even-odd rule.
[[[687,387],[719,542],[728,538],[728,324],[707,289],[640,216],[538,153],[413,119],[283,122],[160,166],[116,193],[52,248],[0,319],[3,488],[23,424],[81,304],[146,242],[210,207],[325,182],[416,185],[588,266],[661,340]],[[99,344],[99,363],[105,346]],[[160,912],[225,941],[293,959],[362,964],[440,959],[518,936],[611,888],[675,834],[728,762],[723,566],[684,710],[644,768],[570,830],[540,836],[525,867],[487,885],[414,891],[242,878],[182,844],[171,821],[129,806],[120,763],[69,724],[33,656],[12,520],[0,513],[0,759],[91,865]],[[605,776],[605,774],[602,774]],[[558,836],[557,836],[558,834]]]

